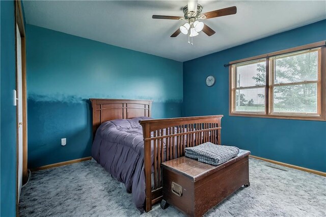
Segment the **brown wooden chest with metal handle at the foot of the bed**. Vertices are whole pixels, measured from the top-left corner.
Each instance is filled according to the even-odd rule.
[[[189,216],[202,216],[242,185],[250,185],[249,154],[240,150],[219,166],[188,157],[163,162],[161,208],[171,204]]]

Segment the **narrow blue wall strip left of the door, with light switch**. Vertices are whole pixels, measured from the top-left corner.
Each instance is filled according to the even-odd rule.
[[[0,1],[1,26],[1,216],[16,215],[16,89],[15,14],[13,1]]]

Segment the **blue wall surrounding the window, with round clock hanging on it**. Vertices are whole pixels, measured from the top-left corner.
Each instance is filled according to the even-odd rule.
[[[183,115],[222,114],[223,144],[326,172],[326,122],[229,116],[229,69],[223,66],[322,40],[326,40],[326,20],[184,62]],[[205,78],[210,74],[216,84],[209,88]]]

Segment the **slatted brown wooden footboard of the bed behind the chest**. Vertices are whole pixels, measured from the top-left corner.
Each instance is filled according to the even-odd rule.
[[[144,136],[146,212],[162,198],[161,162],[184,156],[186,147],[205,142],[221,145],[222,117],[223,115],[213,115],[139,121]]]

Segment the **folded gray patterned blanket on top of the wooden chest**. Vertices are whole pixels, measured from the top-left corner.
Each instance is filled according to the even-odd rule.
[[[239,154],[234,146],[215,145],[207,142],[195,147],[185,148],[185,156],[211,165],[220,165]]]

